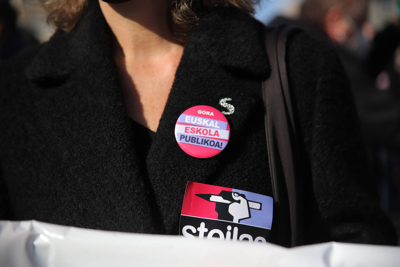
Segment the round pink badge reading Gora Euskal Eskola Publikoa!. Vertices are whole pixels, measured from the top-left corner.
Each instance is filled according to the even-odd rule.
[[[190,156],[209,158],[228,144],[230,128],[224,114],[212,106],[192,106],[175,124],[175,138],[180,148]]]

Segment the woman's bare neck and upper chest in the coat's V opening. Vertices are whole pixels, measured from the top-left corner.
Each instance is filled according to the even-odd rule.
[[[170,32],[169,0],[131,0],[100,8],[115,38],[128,116],[156,131],[183,53]]]

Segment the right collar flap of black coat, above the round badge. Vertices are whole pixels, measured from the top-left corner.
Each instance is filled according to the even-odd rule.
[[[189,33],[188,45],[196,46],[200,53],[226,70],[264,80],[270,74],[270,66],[263,28],[240,10],[217,8],[199,20]]]

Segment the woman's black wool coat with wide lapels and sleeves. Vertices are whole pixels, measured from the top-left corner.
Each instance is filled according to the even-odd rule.
[[[187,181],[272,196],[262,24],[234,9],[198,21],[146,153],[126,115],[111,44],[92,4],[72,32],[0,67],[0,219],[175,235]],[[338,58],[299,32],[288,40],[286,61],[306,162],[304,244],[394,244],[370,190]],[[184,153],[174,137],[178,116],[200,104],[224,110],[224,97],[235,107],[226,149],[208,159]]]

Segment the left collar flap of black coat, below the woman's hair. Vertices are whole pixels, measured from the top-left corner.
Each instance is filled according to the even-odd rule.
[[[27,77],[34,82],[64,80],[82,60],[109,58],[111,31],[97,1],[89,6],[76,28],[69,33],[57,31],[42,45],[27,68]]]

